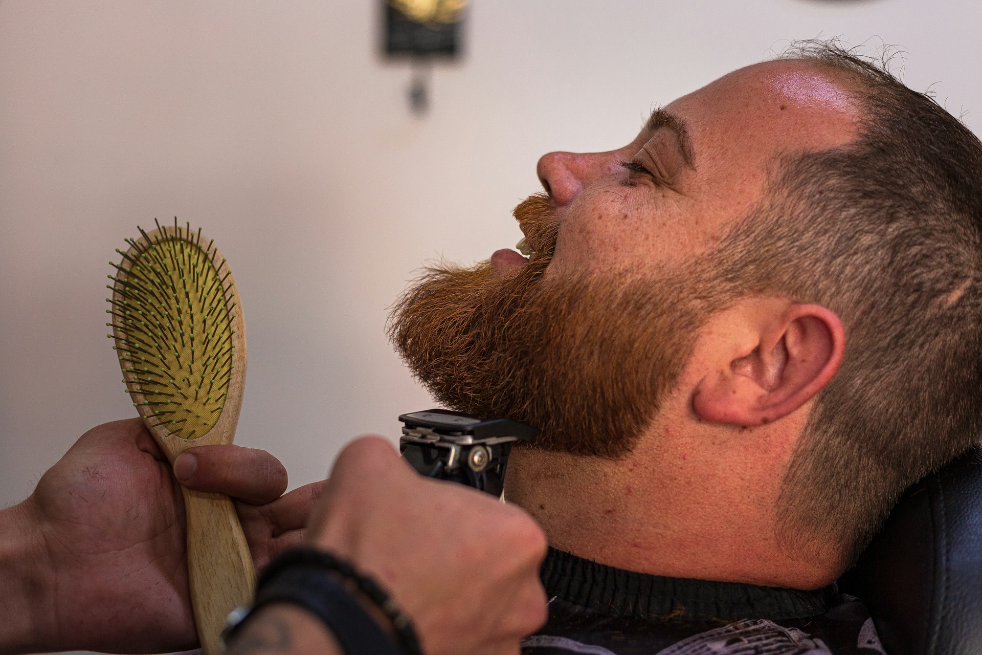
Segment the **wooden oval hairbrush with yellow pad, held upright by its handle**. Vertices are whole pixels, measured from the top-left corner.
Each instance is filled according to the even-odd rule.
[[[156,219],[154,222],[157,223]],[[201,230],[161,227],[128,239],[106,299],[126,393],[167,459],[231,444],[246,383],[246,326],[232,271]],[[194,623],[205,655],[221,652],[225,619],[252,598],[255,572],[224,494],[184,492]]]

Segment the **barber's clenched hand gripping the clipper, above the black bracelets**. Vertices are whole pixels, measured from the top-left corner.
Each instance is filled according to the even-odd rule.
[[[515,655],[546,620],[541,528],[486,493],[421,477],[379,437],[338,457],[305,540],[389,589],[426,655]]]

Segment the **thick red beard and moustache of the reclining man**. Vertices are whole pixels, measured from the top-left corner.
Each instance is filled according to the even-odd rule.
[[[684,272],[544,279],[552,208],[533,195],[515,217],[535,250],[526,266],[504,277],[489,262],[427,269],[397,301],[389,337],[448,408],[534,425],[538,448],[621,457],[675,384],[707,308]]]

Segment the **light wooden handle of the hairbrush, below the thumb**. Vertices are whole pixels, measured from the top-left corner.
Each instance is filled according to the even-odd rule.
[[[255,570],[232,499],[185,489],[191,607],[203,655],[220,655],[229,612],[252,602]]]

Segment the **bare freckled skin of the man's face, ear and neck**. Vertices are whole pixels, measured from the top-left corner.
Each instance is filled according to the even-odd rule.
[[[760,201],[778,153],[855,136],[849,98],[846,82],[811,64],[758,64],[666,105],[685,124],[694,170],[680,164],[677,140],[644,131],[606,152],[543,156],[537,173],[560,221],[547,277],[588,271],[627,278],[689,261]],[[672,178],[655,183],[621,165],[635,160]],[[812,313],[829,326],[827,348],[821,330],[801,327],[807,316],[781,323],[795,306],[754,298],[712,316],[693,335],[676,387],[632,453],[610,461],[518,449],[507,498],[539,520],[552,545],[603,564],[802,589],[834,580],[839,545],[805,554],[782,550],[775,537],[785,467],[845,343],[838,319],[821,308]],[[803,335],[787,342],[787,363],[735,367],[769,357],[784,334]],[[768,339],[764,355],[755,355]],[[806,369],[822,357],[833,363]],[[756,371],[777,376],[760,379]],[[765,411],[792,379],[801,380],[798,391],[787,391],[797,394],[789,396],[794,402]]]

